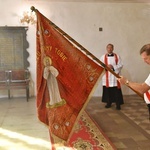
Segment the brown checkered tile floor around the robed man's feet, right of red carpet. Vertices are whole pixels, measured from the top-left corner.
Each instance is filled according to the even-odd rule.
[[[124,96],[120,111],[115,104],[105,108],[100,98],[92,98],[86,110],[99,124],[117,150],[150,150],[150,121],[145,102],[136,95]]]

